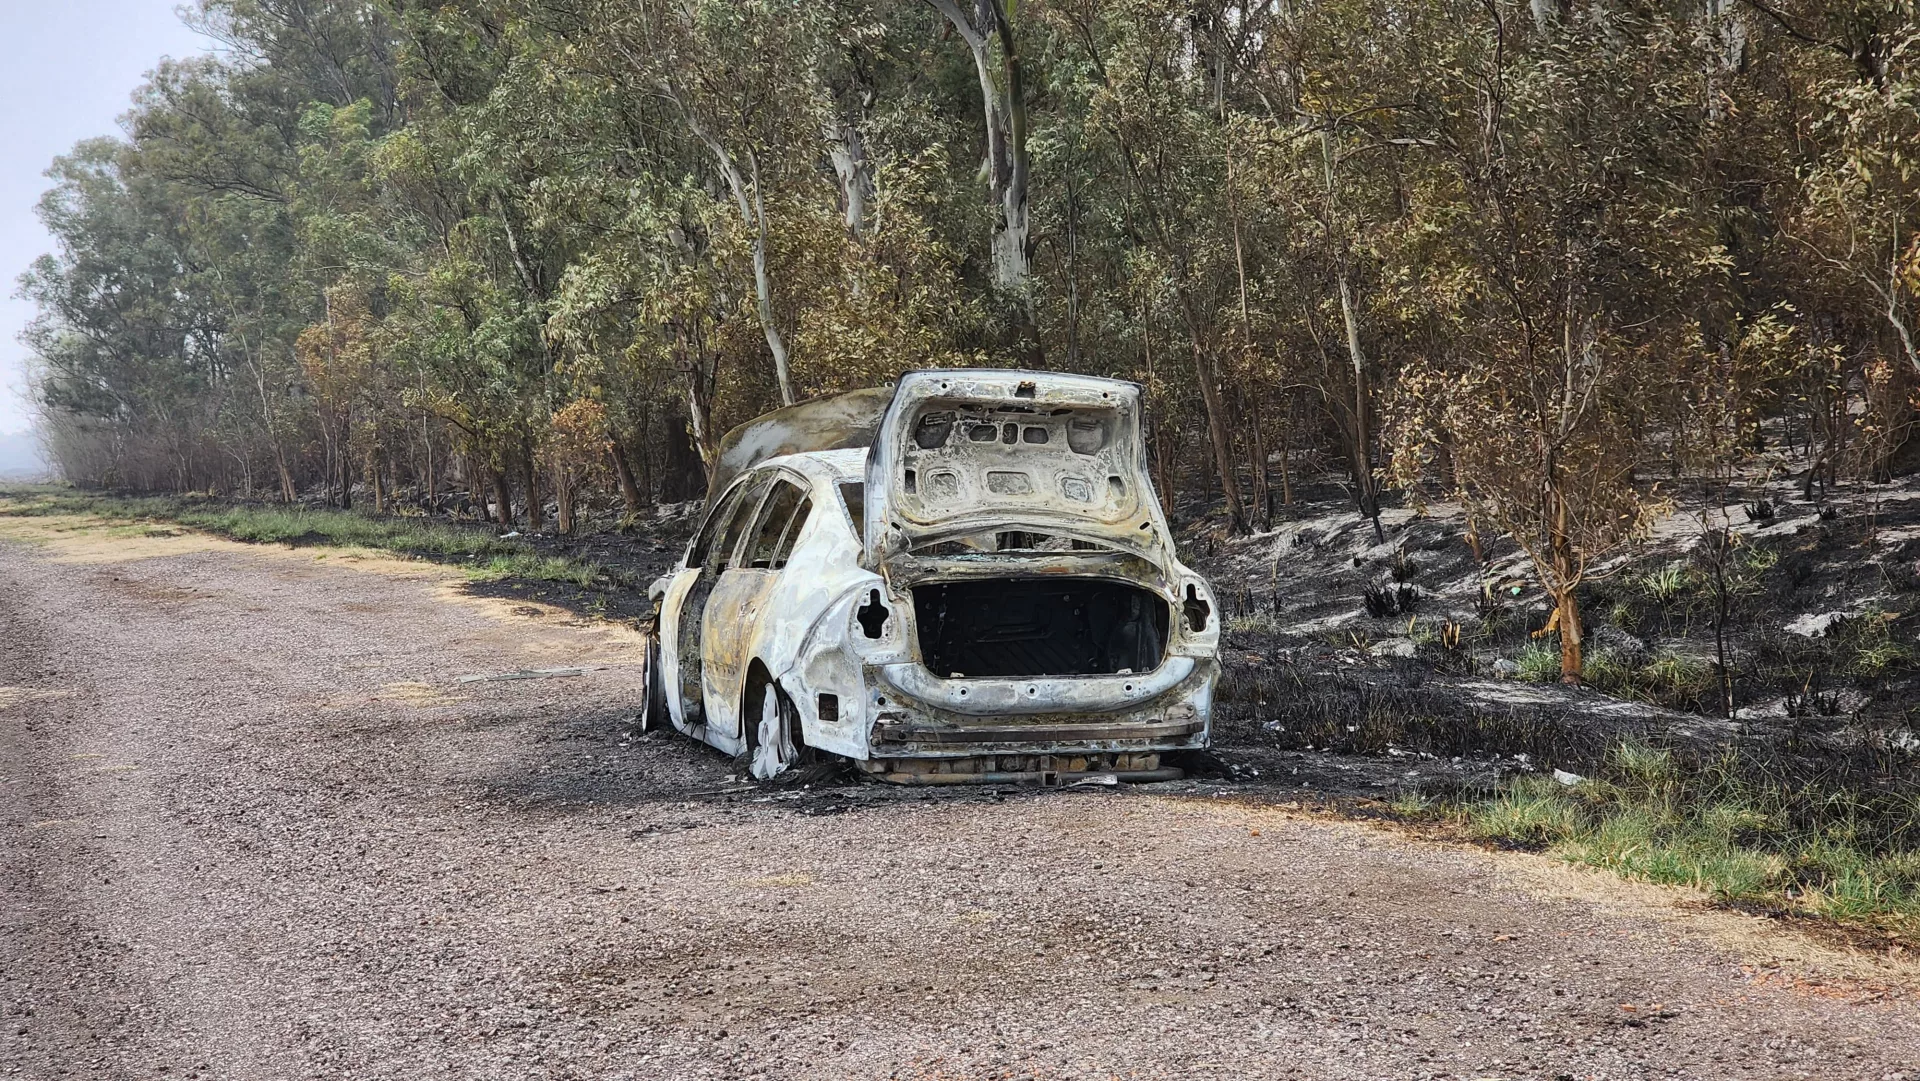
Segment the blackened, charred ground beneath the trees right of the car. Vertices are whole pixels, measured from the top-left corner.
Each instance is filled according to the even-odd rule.
[[[1676,501],[1667,530],[1580,589],[1584,687],[1555,680],[1557,643],[1536,636],[1549,605],[1517,547],[1475,561],[1457,511],[1394,507],[1382,545],[1338,490],[1308,490],[1260,538],[1188,507],[1183,555],[1227,628],[1219,755],[1490,766],[1396,785],[1432,793],[1603,774],[1632,741],[1682,768],[1843,795],[1868,818],[1920,791],[1920,484],[1820,503],[1778,482],[1682,488]],[[1722,503],[1738,505],[1695,524]],[[1715,543],[1726,526],[1734,540]]]

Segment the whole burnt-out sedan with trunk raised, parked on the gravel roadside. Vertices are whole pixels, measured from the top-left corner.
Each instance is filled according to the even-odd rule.
[[[651,595],[645,722],[756,778],[1165,780],[1208,743],[1219,609],[1131,382],[916,371],[749,420]]]

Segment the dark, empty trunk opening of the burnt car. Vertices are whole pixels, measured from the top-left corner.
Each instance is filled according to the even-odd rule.
[[[920,657],[945,678],[1150,672],[1167,603],[1100,578],[1000,578],[914,588]]]

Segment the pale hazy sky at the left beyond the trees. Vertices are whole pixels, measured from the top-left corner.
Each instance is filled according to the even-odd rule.
[[[0,0],[0,436],[27,428],[25,348],[33,305],[15,278],[54,242],[33,205],[46,165],[75,142],[117,134],[132,90],[161,56],[209,42],[186,29],[173,0]]]

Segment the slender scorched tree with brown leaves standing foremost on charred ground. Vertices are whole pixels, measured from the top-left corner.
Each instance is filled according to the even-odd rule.
[[[1726,286],[1718,221],[1692,198],[1703,58],[1678,6],[1582,4],[1544,27],[1432,12],[1448,38],[1411,88],[1430,138],[1415,194],[1423,290],[1450,323],[1415,357],[1398,465],[1444,444],[1463,497],[1553,601],[1561,678],[1582,674],[1578,589],[1661,511],[1636,482],[1642,419],[1680,390],[1697,313]],[[1430,33],[1438,33],[1434,27]],[[1425,413],[1423,413],[1425,411]]]

